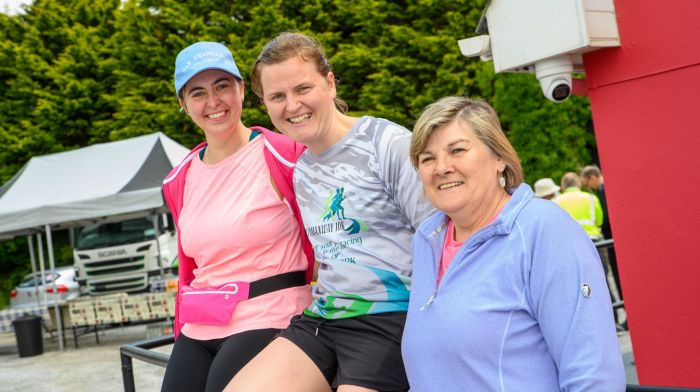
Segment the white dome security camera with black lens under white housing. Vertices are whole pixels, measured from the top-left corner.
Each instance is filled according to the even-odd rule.
[[[565,101],[571,95],[571,73],[574,65],[568,55],[535,62],[535,76],[544,96],[553,102]]]

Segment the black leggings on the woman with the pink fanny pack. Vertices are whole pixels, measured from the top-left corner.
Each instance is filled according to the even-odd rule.
[[[279,332],[255,329],[212,340],[195,340],[180,334],[170,354],[161,391],[220,392]]]

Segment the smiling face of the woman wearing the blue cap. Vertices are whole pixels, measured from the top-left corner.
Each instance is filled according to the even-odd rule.
[[[225,138],[242,127],[243,82],[228,72],[200,72],[182,89],[180,105],[209,138]]]

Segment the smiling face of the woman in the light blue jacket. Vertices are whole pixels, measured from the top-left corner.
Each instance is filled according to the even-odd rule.
[[[504,169],[503,160],[459,120],[435,129],[418,155],[428,199],[453,220],[473,216],[500,197],[505,190],[498,177]]]

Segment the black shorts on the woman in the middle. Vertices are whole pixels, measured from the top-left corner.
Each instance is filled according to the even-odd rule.
[[[279,336],[301,348],[333,387],[407,391],[401,358],[405,323],[405,312],[336,320],[302,314],[294,317]]]

